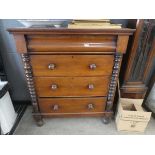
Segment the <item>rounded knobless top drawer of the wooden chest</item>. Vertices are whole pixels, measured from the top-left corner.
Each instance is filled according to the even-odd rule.
[[[115,35],[28,35],[29,52],[115,52]]]

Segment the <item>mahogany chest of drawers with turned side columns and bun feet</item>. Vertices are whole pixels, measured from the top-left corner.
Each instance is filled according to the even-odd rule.
[[[131,29],[14,28],[38,125],[42,117],[111,116]]]

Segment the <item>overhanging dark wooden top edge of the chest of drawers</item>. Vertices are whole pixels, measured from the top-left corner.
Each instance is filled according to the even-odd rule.
[[[87,35],[132,35],[135,31],[134,29],[122,28],[122,29],[68,29],[68,28],[9,28],[9,32],[12,34],[87,34]]]

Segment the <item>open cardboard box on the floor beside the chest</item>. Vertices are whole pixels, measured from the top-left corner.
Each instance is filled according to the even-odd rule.
[[[143,99],[120,98],[116,115],[118,131],[144,132],[151,112],[142,108]]]

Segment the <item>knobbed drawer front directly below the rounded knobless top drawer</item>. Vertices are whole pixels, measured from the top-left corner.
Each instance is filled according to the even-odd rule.
[[[31,55],[34,76],[111,75],[113,55]]]

